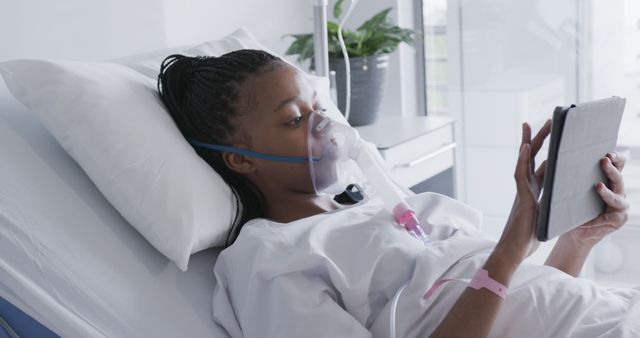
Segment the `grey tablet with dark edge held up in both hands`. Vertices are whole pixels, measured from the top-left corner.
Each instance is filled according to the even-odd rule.
[[[625,103],[612,97],[556,107],[538,208],[538,240],[559,236],[604,211],[595,184],[608,186],[600,160],[615,151]]]

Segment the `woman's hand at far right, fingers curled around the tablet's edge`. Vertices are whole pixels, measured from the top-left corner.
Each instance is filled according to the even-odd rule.
[[[620,229],[629,219],[627,213],[629,203],[626,201],[627,194],[622,178],[625,162],[625,158],[616,153],[609,153],[600,161],[602,170],[609,178],[611,186],[609,189],[602,182],[596,184],[596,191],[606,204],[605,211],[598,217],[563,235],[570,238],[571,242],[581,249],[591,250],[596,243],[608,234]]]

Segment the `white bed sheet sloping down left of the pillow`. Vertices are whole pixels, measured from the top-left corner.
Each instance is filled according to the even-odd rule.
[[[178,270],[0,81],[0,297],[64,337],[224,337],[217,254]]]

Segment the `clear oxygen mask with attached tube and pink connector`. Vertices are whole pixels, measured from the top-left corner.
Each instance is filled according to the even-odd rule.
[[[360,169],[395,221],[425,245],[431,244],[415,211],[353,127],[332,120],[322,111],[314,111],[309,116],[308,128],[309,170],[316,194],[340,194],[354,182],[353,173]]]

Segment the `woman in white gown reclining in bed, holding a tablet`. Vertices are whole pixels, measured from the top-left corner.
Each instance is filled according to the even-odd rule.
[[[476,211],[441,195],[419,194],[408,202],[434,226],[434,245],[424,246],[391,226],[376,198],[342,205],[315,194],[307,163],[255,155],[306,156],[308,117],[324,109],[305,75],[281,59],[257,50],[172,55],[163,62],[158,89],[185,138],[228,147],[194,148],[241,203],[228,237],[233,245],[215,267],[214,319],[231,336],[640,332],[627,317],[640,322],[639,290],[608,291],[573,278],[593,246],[627,220],[624,159],[616,154],[602,160],[610,187],[596,186],[606,211],[562,235],[546,266],[533,266],[522,263],[539,244],[534,224],[545,163],[534,172],[532,162],[550,121],[533,139],[523,125],[517,194],[497,243],[477,230]],[[508,296],[456,281],[422,296],[439,280],[470,278],[476,271],[508,287]]]

